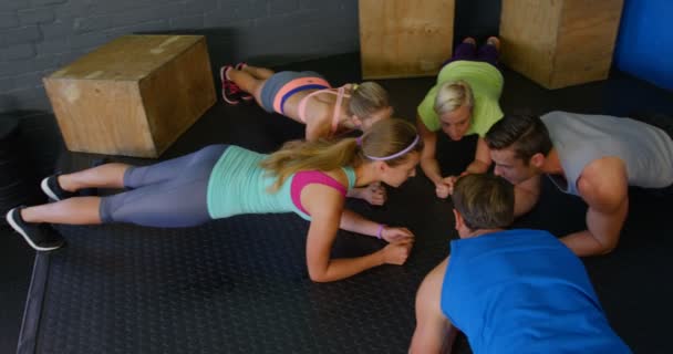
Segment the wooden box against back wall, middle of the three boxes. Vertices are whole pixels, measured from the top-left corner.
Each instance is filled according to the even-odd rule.
[[[453,49],[454,0],[360,0],[362,77],[437,74]]]

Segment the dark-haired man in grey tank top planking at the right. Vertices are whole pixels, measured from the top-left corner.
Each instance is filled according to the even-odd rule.
[[[673,185],[673,140],[630,118],[551,112],[506,116],[486,134],[495,174],[515,185],[515,216],[540,194],[540,175],[587,202],[587,230],[561,238],[578,256],[612,251],[629,210],[629,186]]]

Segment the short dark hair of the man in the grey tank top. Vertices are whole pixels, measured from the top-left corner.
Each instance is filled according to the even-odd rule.
[[[514,146],[517,158],[528,162],[532,155],[551,150],[549,131],[537,115],[506,115],[486,133],[488,148],[500,150]]]

